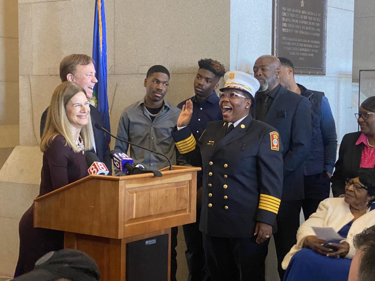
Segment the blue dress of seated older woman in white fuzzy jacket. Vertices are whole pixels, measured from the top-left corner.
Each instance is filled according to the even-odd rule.
[[[371,211],[375,204],[371,204]],[[347,237],[353,221],[340,229],[339,234]],[[338,243],[339,241],[330,241]],[[311,249],[302,248],[298,251],[285,271],[284,281],[347,281],[351,259],[321,256]]]

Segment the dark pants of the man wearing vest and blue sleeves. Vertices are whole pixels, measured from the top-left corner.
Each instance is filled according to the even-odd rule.
[[[329,197],[330,184],[326,171],[303,177],[305,199],[302,200],[302,211],[305,220],[317,211],[320,202]]]

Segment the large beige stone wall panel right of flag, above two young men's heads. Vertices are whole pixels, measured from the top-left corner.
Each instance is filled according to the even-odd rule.
[[[200,58],[228,65],[229,12],[229,0],[115,1],[115,73],[154,64],[191,73]]]

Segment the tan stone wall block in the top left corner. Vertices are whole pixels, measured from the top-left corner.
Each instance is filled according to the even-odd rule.
[[[0,37],[18,38],[17,1],[0,0]]]

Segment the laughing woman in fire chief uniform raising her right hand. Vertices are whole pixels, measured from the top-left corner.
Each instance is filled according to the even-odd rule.
[[[189,100],[172,136],[186,160],[203,167],[199,230],[211,279],[264,280],[282,191],[282,144],[275,128],[249,114],[258,80],[240,71],[224,79],[223,120],[208,123],[196,143],[186,127],[193,112]]]

